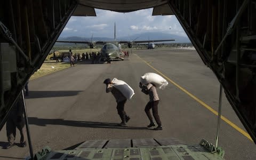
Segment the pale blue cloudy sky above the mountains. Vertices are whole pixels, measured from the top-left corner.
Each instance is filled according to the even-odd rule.
[[[76,17],[69,19],[60,37],[108,37],[116,38],[146,32],[161,32],[186,36],[175,15],[152,16],[153,8],[129,13],[95,9],[97,17]]]

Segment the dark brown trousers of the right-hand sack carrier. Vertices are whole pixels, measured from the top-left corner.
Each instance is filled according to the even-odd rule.
[[[150,123],[154,123],[153,122],[153,117],[150,114],[150,109],[152,108],[153,116],[154,116],[154,118],[156,120],[156,123],[159,126],[161,126],[162,123],[161,123],[160,117],[158,115],[158,103],[159,103],[159,100],[153,101],[153,102],[148,102],[146,107],[145,107],[145,112],[146,112],[146,114],[148,116],[148,119],[149,119]]]

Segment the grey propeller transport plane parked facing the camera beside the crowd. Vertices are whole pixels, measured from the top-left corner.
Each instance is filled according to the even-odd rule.
[[[137,38],[136,38],[137,39]],[[152,42],[167,42],[175,41],[174,39],[162,39],[162,40],[148,40],[148,41],[116,41],[116,23],[114,26],[114,41],[59,41],[60,43],[82,43],[87,44],[90,48],[93,48],[95,45],[104,44],[101,48],[101,60],[106,61],[107,59],[120,59],[124,60],[124,53],[121,51],[122,44],[127,44],[129,48],[132,48],[133,44],[148,43],[148,49],[154,49],[155,44]]]

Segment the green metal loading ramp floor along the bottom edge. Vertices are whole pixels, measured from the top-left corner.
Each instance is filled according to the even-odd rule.
[[[199,146],[203,148],[202,146]],[[191,150],[193,146],[173,145],[173,146],[158,146],[158,147],[130,147],[130,148],[103,148],[93,149],[84,148],[77,150],[59,150],[51,151],[44,158],[45,160],[59,159],[59,160],[86,160],[86,159],[102,159],[102,160],[221,160],[219,155],[211,154],[204,149],[196,151]]]

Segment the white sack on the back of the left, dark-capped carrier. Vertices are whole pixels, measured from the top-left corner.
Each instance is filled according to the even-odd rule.
[[[114,78],[112,80],[112,82],[113,82],[113,86],[117,90],[119,90],[121,93],[123,93],[123,95],[126,99],[130,100],[132,98],[132,96],[135,94],[133,89],[127,83],[125,83],[124,81],[121,81],[117,78]]]

